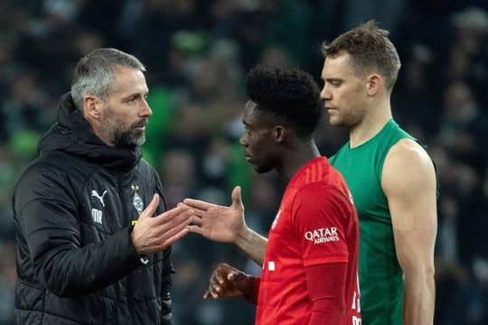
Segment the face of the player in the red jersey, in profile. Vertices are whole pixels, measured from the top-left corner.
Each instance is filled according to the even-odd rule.
[[[249,100],[244,108],[242,123],[245,125],[246,132],[240,137],[239,142],[244,147],[248,163],[252,164],[259,173],[276,168],[275,125],[271,118],[260,113],[257,104]]]

